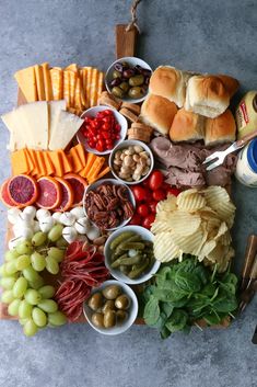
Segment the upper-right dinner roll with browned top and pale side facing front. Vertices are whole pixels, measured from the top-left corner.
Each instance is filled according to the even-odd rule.
[[[185,109],[215,118],[230,104],[230,93],[215,76],[194,76],[187,84]]]

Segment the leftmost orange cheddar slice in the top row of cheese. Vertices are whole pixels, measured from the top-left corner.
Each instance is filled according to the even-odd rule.
[[[37,101],[36,75],[34,66],[19,70],[14,78],[27,102]]]

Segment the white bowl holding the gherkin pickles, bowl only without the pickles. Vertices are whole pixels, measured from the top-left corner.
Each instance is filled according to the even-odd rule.
[[[161,265],[160,261],[155,260],[152,268],[147,273],[144,273],[143,275],[141,275],[139,278],[136,278],[136,280],[129,278],[127,275],[122,274],[119,270],[113,269],[110,266],[110,243],[113,242],[113,240],[116,237],[118,237],[120,234],[126,232],[126,231],[137,232],[144,240],[149,240],[151,242],[153,241],[152,232],[150,232],[147,228],[143,228],[141,226],[126,226],[121,229],[118,229],[115,232],[113,232],[108,237],[107,241],[105,242],[105,247],[104,247],[105,265],[109,270],[113,277],[115,277],[116,280],[121,281],[121,282],[129,284],[129,285],[142,284],[143,282],[149,281],[152,277],[152,275],[159,271],[159,268]]]

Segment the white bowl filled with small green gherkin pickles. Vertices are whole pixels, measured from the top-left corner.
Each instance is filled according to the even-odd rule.
[[[151,280],[160,268],[154,258],[153,235],[141,226],[125,226],[105,242],[105,265],[112,276],[129,285]]]

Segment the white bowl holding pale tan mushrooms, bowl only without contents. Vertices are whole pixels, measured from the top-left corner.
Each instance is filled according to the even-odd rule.
[[[126,181],[126,180],[122,180],[120,179],[114,168],[113,168],[113,164],[114,164],[114,157],[115,157],[115,153],[117,150],[119,149],[124,149],[124,148],[128,148],[129,146],[131,145],[139,145],[140,147],[142,147],[148,153],[149,153],[149,157],[150,157],[150,160],[151,160],[151,166],[150,166],[150,169],[149,169],[149,172],[148,174],[145,174],[144,177],[142,177],[140,180],[138,181]],[[148,179],[148,177],[150,175],[150,173],[152,172],[153,170],[153,166],[154,166],[154,158],[153,158],[153,153],[152,153],[152,150],[142,141],[139,141],[138,139],[126,139],[125,141],[118,144],[113,150],[112,150],[112,153],[109,156],[109,168],[112,170],[112,173],[113,175],[120,182],[122,182],[124,184],[128,184],[128,185],[135,185],[135,184],[140,184],[142,183],[142,181],[144,181],[145,179]]]

